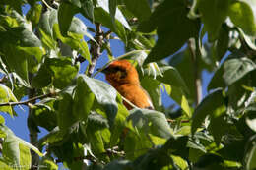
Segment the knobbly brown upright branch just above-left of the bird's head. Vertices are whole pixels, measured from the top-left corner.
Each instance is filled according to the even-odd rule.
[[[99,56],[101,55],[101,46],[102,46],[102,40],[103,40],[103,32],[100,28],[100,24],[96,23],[96,42],[92,41],[90,52],[92,54],[92,61],[91,64],[88,67],[88,76],[92,76],[94,73],[95,67],[96,67],[96,61],[98,60]]]

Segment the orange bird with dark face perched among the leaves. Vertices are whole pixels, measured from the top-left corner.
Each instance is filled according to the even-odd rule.
[[[154,109],[149,94],[140,85],[137,70],[129,61],[113,61],[102,72],[110,85],[131,103],[139,108]],[[125,101],[124,105],[128,110],[133,108]]]

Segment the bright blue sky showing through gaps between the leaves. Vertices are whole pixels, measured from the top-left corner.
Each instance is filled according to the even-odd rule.
[[[23,12],[26,14],[28,9],[29,9],[29,7],[25,6],[23,8]],[[94,28],[94,25],[92,23],[90,23],[88,20],[86,20],[84,17],[82,17],[81,15],[77,15],[77,17],[82,19],[84,21],[84,23],[86,24],[86,26]],[[124,54],[124,44],[121,41],[110,40],[110,44],[111,44],[111,49],[112,49],[114,57]],[[100,59],[98,60],[98,62],[96,64],[96,68],[102,67],[107,62],[108,62],[107,54],[106,54],[106,52],[103,52],[103,54],[101,55]],[[87,66],[87,62],[84,62],[81,65],[81,72],[83,72],[85,70],[86,66]],[[205,96],[207,94],[207,85],[212,78],[212,74],[204,71],[202,77],[203,77],[203,95]],[[104,76],[101,73],[96,75],[96,79],[105,81]],[[174,103],[173,100],[170,99],[165,92],[163,92],[163,95],[162,95],[162,102],[163,102],[164,106],[169,106]],[[21,107],[23,109],[21,109]],[[18,113],[17,117],[11,118],[8,114],[2,113],[2,112],[0,114],[2,116],[4,116],[6,125],[18,137],[29,142],[29,130],[27,128],[28,107],[27,106],[21,106],[21,107],[18,107],[18,106],[15,107],[15,110]],[[40,128],[40,131],[41,131],[41,133],[38,134],[39,138],[43,137],[47,133],[47,131],[42,128]]]

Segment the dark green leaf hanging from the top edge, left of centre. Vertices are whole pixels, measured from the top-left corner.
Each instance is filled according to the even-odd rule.
[[[70,3],[62,2],[60,4],[58,8],[58,23],[62,35],[67,36],[73,16],[78,12],[78,8]]]

